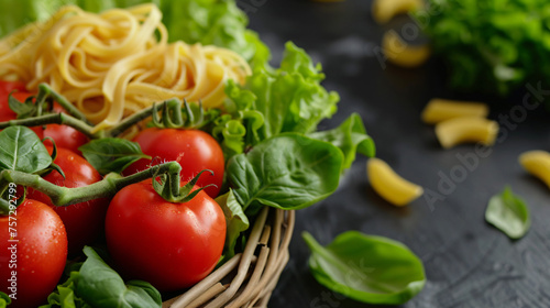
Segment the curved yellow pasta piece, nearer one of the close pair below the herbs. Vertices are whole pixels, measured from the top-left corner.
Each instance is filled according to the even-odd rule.
[[[436,125],[436,135],[444,148],[469,142],[493,145],[498,123],[483,118],[454,118]]]

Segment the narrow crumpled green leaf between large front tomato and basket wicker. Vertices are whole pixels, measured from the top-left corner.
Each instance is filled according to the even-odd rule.
[[[237,201],[232,189],[229,193],[216,198],[226,215],[226,245],[223,248],[223,258],[229,260],[235,254],[237,240],[241,232],[250,227],[249,218],[244,215],[242,206]]]

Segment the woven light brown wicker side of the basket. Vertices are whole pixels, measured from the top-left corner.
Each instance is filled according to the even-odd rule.
[[[266,307],[288,262],[294,211],[265,207],[257,216],[244,252],[237,254],[163,308]]]

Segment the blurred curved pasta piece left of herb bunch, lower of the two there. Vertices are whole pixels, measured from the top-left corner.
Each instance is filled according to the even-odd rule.
[[[384,34],[382,50],[388,62],[407,68],[422,65],[431,54],[427,44],[409,45],[395,30],[389,30]]]

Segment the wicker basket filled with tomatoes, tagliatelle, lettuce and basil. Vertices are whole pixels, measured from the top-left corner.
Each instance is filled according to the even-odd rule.
[[[336,191],[358,152],[374,155],[361,118],[318,131],[339,101],[321,66],[293,43],[270,65],[234,1],[54,2],[48,19],[6,21],[21,26],[0,41],[0,224],[50,211],[57,230],[0,231],[36,268],[12,293],[0,283],[0,300],[266,307],[295,210]],[[56,245],[20,256],[35,238]],[[52,274],[37,276],[28,260],[46,254]]]

